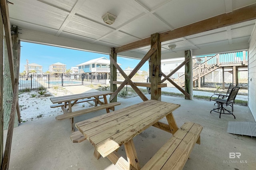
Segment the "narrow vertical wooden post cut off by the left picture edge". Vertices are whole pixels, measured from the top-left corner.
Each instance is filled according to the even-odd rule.
[[[1,8],[0,13],[0,167],[2,167],[4,154],[4,23]]]

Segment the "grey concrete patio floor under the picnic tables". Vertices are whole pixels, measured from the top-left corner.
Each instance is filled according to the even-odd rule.
[[[146,95],[150,98],[150,95]],[[201,133],[201,145],[195,145],[184,170],[254,170],[256,167],[256,137],[227,133],[228,121],[255,122],[248,107],[234,106],[234,115],[210,114],[214,102],[203,100],[184,100],[162,96],[162,101],[180,104],[173,114],[178,127],[186,121],[199,123],[204,128]],[[139,97],[118,100],[121,105],[116,110],[142,102]],[[47,107],[47,106],[46,106]],[[50,106],[49,106],[50,107]],[[106,110],[88,113],[74,118],[79,122],[105,114]],[[166,119],[162,122],[167,123]],[[77,129],[76,129],[77,131]],[[14,128],[10,170],[115,170],[108,158],[96,160],[94,147],[88,140],[72,143],[70,140],[70,121],[56,121],[47,117],[21,123]],[[4,131],[6,140],[7,131]],[[171,137],[170,133],[150,127],[134,138],[140,166],[155,154]],[[5,141],[4,141],[5,143]],[[239,158],[230,159],[230,152],[240,152]],[[118,153],[126,158],[124,147]]]

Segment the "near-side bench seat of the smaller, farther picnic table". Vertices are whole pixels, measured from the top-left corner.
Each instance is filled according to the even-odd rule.
[[[64,119],[72,118],[72,117],[75,117],[75,116],[83,115],[83,114],[86,114],[86,113],[91,113],[93,111],[98,111],[98,110],[101,110],[101,109],[114,107],[114,106],[117,106],[117,105],[120,105],[120,104],[121,103],[119,103],[119,102],[113,102],[113,103],[103,104],[103,105],[96,106],[96,107],[89,107],[89,108],[82,109],[82,110],[72,111],[72,113],[58,115],[58,116],[55,117],[55,119],[56,120],[64,120]]]

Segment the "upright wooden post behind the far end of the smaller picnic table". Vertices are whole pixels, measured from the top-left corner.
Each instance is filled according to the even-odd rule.
[[[114,59],[114,61],[116,61],[117,55],[115,53],[115,48],[111,49],[110,57],[112,57],[112,59]],[[117,89],[116,84],[113,84],[113,81],[116,81],[116,76],[117,76],[116,67],[114,66],[112,61],[110,61],[110,91],[111,92],[115,92]],[[111,94],[111,96],[112,95],[113,94]],[[111,98],[111,96],[110,96],[110,98]],[[117,96],[114,96],[114,98],[112,100],[110,100],[110,102],[117,102]]]

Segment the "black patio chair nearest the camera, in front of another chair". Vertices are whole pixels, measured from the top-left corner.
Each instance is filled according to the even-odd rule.
[[[224,99],[223,96],[221,96],[221,95],[219,95],[218,98],[213,99],[212,101],[215,101],[218,104],[218,108],[212,109],[212,111],[220,113],[220,115],[221,114],[231,114],[236,119],[236,116],[233,114],[233,111],[234,111],[233,105],[234,105],[234,101],[235,101],[235,98],[236,98],[236,95],[237,95],[239,89],[240,89],[240,87],[232,88],[229,95],[227,95],[228,96],[227,99]],[[224,108],[223,105],[231,106],[232,111]],[[218,110],[218,111],[216,111],[216,110]],[[210,111],[210,113],[212,113],[212,111]],[[225,113],[225,111],[226,111],[226,113]]]

